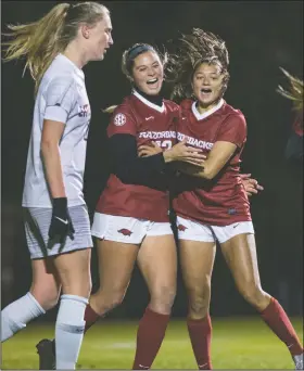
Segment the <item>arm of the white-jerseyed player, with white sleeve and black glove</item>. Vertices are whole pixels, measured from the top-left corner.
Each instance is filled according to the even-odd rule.
[[[73,106],[75,106],[75,90],[73,78],[58,76],[50,82],[45,92],[46,111],[40,153],[52,199],[52,219],[49,236],[53,239],[58,235],[60,241],[64,241],[67,234],[73,239],[74,233],[64,188],[60,142],[67,125],[68,115]]]

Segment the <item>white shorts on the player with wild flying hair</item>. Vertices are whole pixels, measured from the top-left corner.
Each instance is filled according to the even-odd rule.
[[[224,243],[235,235],[242,233],[254,234],[252,221],[239,221],[229,226],[205,226],[198,221],[185,219],[181,217],[176,218],[176,226],[178,231],[178,240],[191,240],[201,242],[215,242]]]

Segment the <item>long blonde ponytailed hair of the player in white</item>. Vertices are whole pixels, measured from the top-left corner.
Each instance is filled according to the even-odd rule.
[[[36,22],[8,25],[11,33],[3,34],[9,38],[2,43],[8,47],[3,61],[25,57],[24,72],[29,69],[37,93],[45,72],[53,59],[75,39],[80,24],[94,26],[104,14],[110,14],[109,10],[97,2],[61,3]]]

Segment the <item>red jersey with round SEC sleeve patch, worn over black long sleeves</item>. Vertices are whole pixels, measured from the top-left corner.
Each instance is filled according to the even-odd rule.
[[[164,100],[162,107],[149,102],[137,91],[115,108],[107,128],[107,136],[128,133],[137,139],[137,145],[155,141],[163,149],[176,142],[176,121],[179,106]],[[114,174],[97,204],[97,212],[128,216],[152,221],[168,221],[169,197],[167,190],[145,186],[125,184]]]

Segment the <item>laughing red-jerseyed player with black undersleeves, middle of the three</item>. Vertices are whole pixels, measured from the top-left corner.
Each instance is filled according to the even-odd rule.
[[[168,163],[201,164],[204,156],[176,144],[179,106],[160,95],[165,60],[149,44],[123,54],[123,71],[132,82],[107,128],[112,171],[97,204],[100,289],[90,297],[86,329],[122,303],[137,260],[150,292],[139,322],[134,369],[151,367],[165,335],[176,293],[177,254],[168,218]],[[138,146],[156,142],[165,152],[138,157]]]

